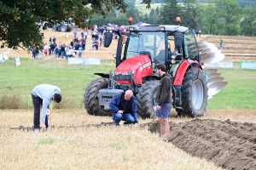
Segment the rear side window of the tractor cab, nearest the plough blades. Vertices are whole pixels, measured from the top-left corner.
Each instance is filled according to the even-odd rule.
[[[189,31],[185,32],[185,37],[186,37],[186,44],[188,48],[188,55],[187,57],[191,59],[195,59],[196,55],[198,54],[198,48],[197,48],[197,42],[195,40],[195,36],[191,35]]]

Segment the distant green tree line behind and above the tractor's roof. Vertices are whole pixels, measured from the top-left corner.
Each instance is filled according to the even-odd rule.
[[[96,14],[91,23],[98,26],[108,23],[127,26],[127,18],[131,16],[134,24],[143,21],[152,25],[176,25],[175,18],[179,16],[182,20],[181,26],[201,30],[204,34],[255,36],[256,8],[241,8],[237,1],[205,0],[205,3],[198,3],[196,0],[183,0],[183,4],[180,4],[177,0],[165,0],[160,8],[148,9],[148,14],[142,14],[135,8],[135,0],[125,0],[128,4],[125,14],[112,11],[106,19]]]

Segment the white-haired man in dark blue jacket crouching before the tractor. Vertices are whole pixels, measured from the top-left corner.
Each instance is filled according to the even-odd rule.
[[[131,90],[114,96],[109,108],[115,125],[120,121],[125,121],[125,125],[137,123],[137,101]]]

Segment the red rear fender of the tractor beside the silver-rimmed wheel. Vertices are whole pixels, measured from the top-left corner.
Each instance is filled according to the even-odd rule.
[[[176,76],[174,77],[174,80],[172,83],[173,86],[183,84],[183,77],[184,77],[187,69],[189,68],[189,66],[193,63],[198,64],[198,62],[196,60],[187,59],[187,60],[184,60],[181,65],[179,65],[179,67],[177,68],[177,71],[176,71]]]

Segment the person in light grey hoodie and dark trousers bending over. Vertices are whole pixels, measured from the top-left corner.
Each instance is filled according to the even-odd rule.
[[[50,85],[40,84],[32,89],[32,102],[34,105],[34,128],[38,131],[40,127],[48,127],[48,119],[46,116],[49,102],[53,100],[55,103],[61,102],[61,89]],[[40,126],[40,106],[42,105],[42,116]]]

